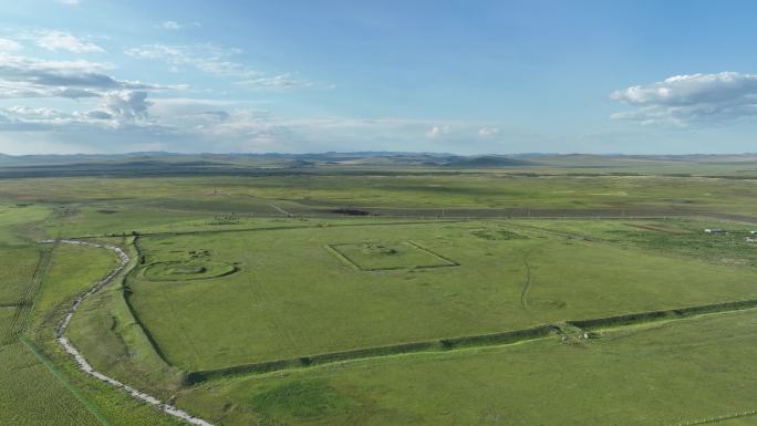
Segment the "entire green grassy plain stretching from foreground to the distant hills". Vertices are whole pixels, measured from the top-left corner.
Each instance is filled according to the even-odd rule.
[[[2,179],[0,424],[179,424],[54,342],[71,237],[66,336],[217,426],[757,422],[754,165],[571,160]]]

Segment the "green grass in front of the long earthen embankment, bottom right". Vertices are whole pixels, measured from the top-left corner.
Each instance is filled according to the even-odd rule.
[[[211,382],[178,402],[229,425],[680,425],[757,407],[755,326],[745,311],[372,359]]]

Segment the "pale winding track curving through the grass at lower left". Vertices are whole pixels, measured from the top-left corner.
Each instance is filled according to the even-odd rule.
[[[195,416],[188,414],[187,412],[179,409],[178,407],[176,407],[174,405],[166,404],[166,403],[162,402],[160,399],[158,399],[152,395],[148,395],[142,391],[137,391],[134,387],[132,387],[125,383],[121,383],[121,382],[116,381],[115,378],[108,377],[108,376],[95,371],[94,368],[92,368],[90,363],[86,362],[86,360],[84,359],[84,355],[82,355],[82,353],[79,352],[79,350],[76,347],[74,347],[73,344],[71,344],[69,339],[65,337],[65,335],[64,335],[65,329],[69,326],[69,323],[71,322],[71,319],[73,318],[73,314],[76,312],[76,310],[79,309],[81,303],[86,298],[96,293],[100,289],[103,288],[103,285],[111,282],[118,273],[121,273],[121,271],[123,271],[126,268],[126,266],[129,262],[128,254],[126,254],[118,247],[107,246],[107,245],[98,245],[98,243],[94,243],[94,242],[85,242],[85,241],[77,241],[77,240],[43,240],[41,242],[94,247],[94,248],[98,248],[98,249],[113,250],[113,251],[115,251],[116,254],[118,254],[118,260],[120,260],[118,266],[116,268],[114,268],[107,276],[105,276],[105,278],[95,282],[94,285],[92,285],[92,288],[90,288],[90,290],[87,290],[86,292],[79,295],[74,300],[74,302],[71,305],[71,308],[69,309],[69,311],[66,312],[65,318],[63,318],[63,322],[61,322],[61,324],[58,326],[58,331],[55,333],[55,340],[58,341],[58,343],[61,346],[63,346],[65,352],[68,352],[76,361],[76,364],[79,365],[79,370],[81,370],[84,373],[86,373],[86,374],[89,374],[89,375],[91,375],[91,376],[93,376],[93,377],[95,377],[102,382],[105,382],[105,383],[107,383],[114,387],[118,387],[118,388],[122,388],[122,389],[128,392],[133,397],[135,397],[142,402],[145,402],[147,404],[154,405],[159,411],[162,411],[162,412],[164,412],[170,416],[180,418],[182,420],[185,420],[185,422],[190,423],[193,425],[215,426],[210,422],[206,422],[199,417],[195,417]]]

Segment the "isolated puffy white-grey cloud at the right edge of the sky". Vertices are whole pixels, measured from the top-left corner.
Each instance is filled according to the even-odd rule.
[[[615,91],[610,98],[635,107],[612,114],[615,120],[680,126],[716,123],[757,114],[757,74],[674,75]]]

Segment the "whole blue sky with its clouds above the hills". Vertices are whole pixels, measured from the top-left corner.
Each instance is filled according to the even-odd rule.
[[[753,1],[0,6],[0,153],[756,152]]]

